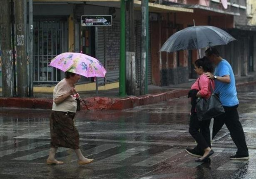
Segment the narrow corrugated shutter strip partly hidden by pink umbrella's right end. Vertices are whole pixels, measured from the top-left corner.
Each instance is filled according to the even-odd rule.
[[[98,51],[96,52],[97,59],[104,66],[105,46],[104,46],[104,27],[98,27]],[[105,78],[98,77],[98,85],[104,84]]]

